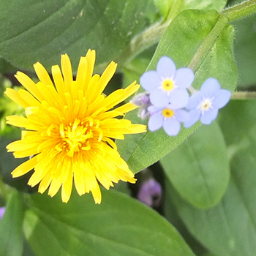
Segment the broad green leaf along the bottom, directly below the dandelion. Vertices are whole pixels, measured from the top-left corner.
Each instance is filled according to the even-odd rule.
[[[147,206],[114,191],[104,191],[101,205],[89,195],[33,195],[24,232],[40,255],[193,255],[164,218]]]

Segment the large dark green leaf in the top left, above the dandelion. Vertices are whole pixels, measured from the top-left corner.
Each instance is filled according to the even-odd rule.
[[[75,70],[89,48],[97,50],[97,64],[109,62],[156,17],[154,2],[148,0],[3,0],[0,54],[23,69],[37,61],[49,69],[68,53]]]

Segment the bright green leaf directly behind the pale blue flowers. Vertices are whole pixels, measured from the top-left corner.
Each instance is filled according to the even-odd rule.
[[[219,29],[218,20],[219,15],[213,10],[181,12],[165,31],[148,70],[156,69],[157,62],[162,56],[173,59],[177,68],[187,67],[192,61],[197,64],[193,83],[195,88],[200,88],[207,78],[214,77],[219,80],[222,88],[233,91],[237,83],[232,51],[233,27],[225,26],[224,19],[224,24],[220,24],[223,28]],[[217,29],[220,30],[220,34],[217,33]],[[133,123],[142,123],[136,111],[128,113],[127,119]],[[146,121],[144,123],[146,124]],[[198,125],[190,129],[181,129],[176,137],[168,137],[162,129],[141,135],[128,135],[126,140],[118,141],[118,151],[136,173],[173,151],[197,127]]]

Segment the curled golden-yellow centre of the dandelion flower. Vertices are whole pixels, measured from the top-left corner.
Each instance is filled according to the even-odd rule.
[[[60,124],[59,132],[61,135],[61,143],[56,146],[59,151],[66,150],[67,156],[73,157],[75,152],[82,150],[89,150],[91,145],[89,138],[93,137],[93,132],[88,124],[83,124],[78,119],[68,126],[64,127],[64,124]]]

